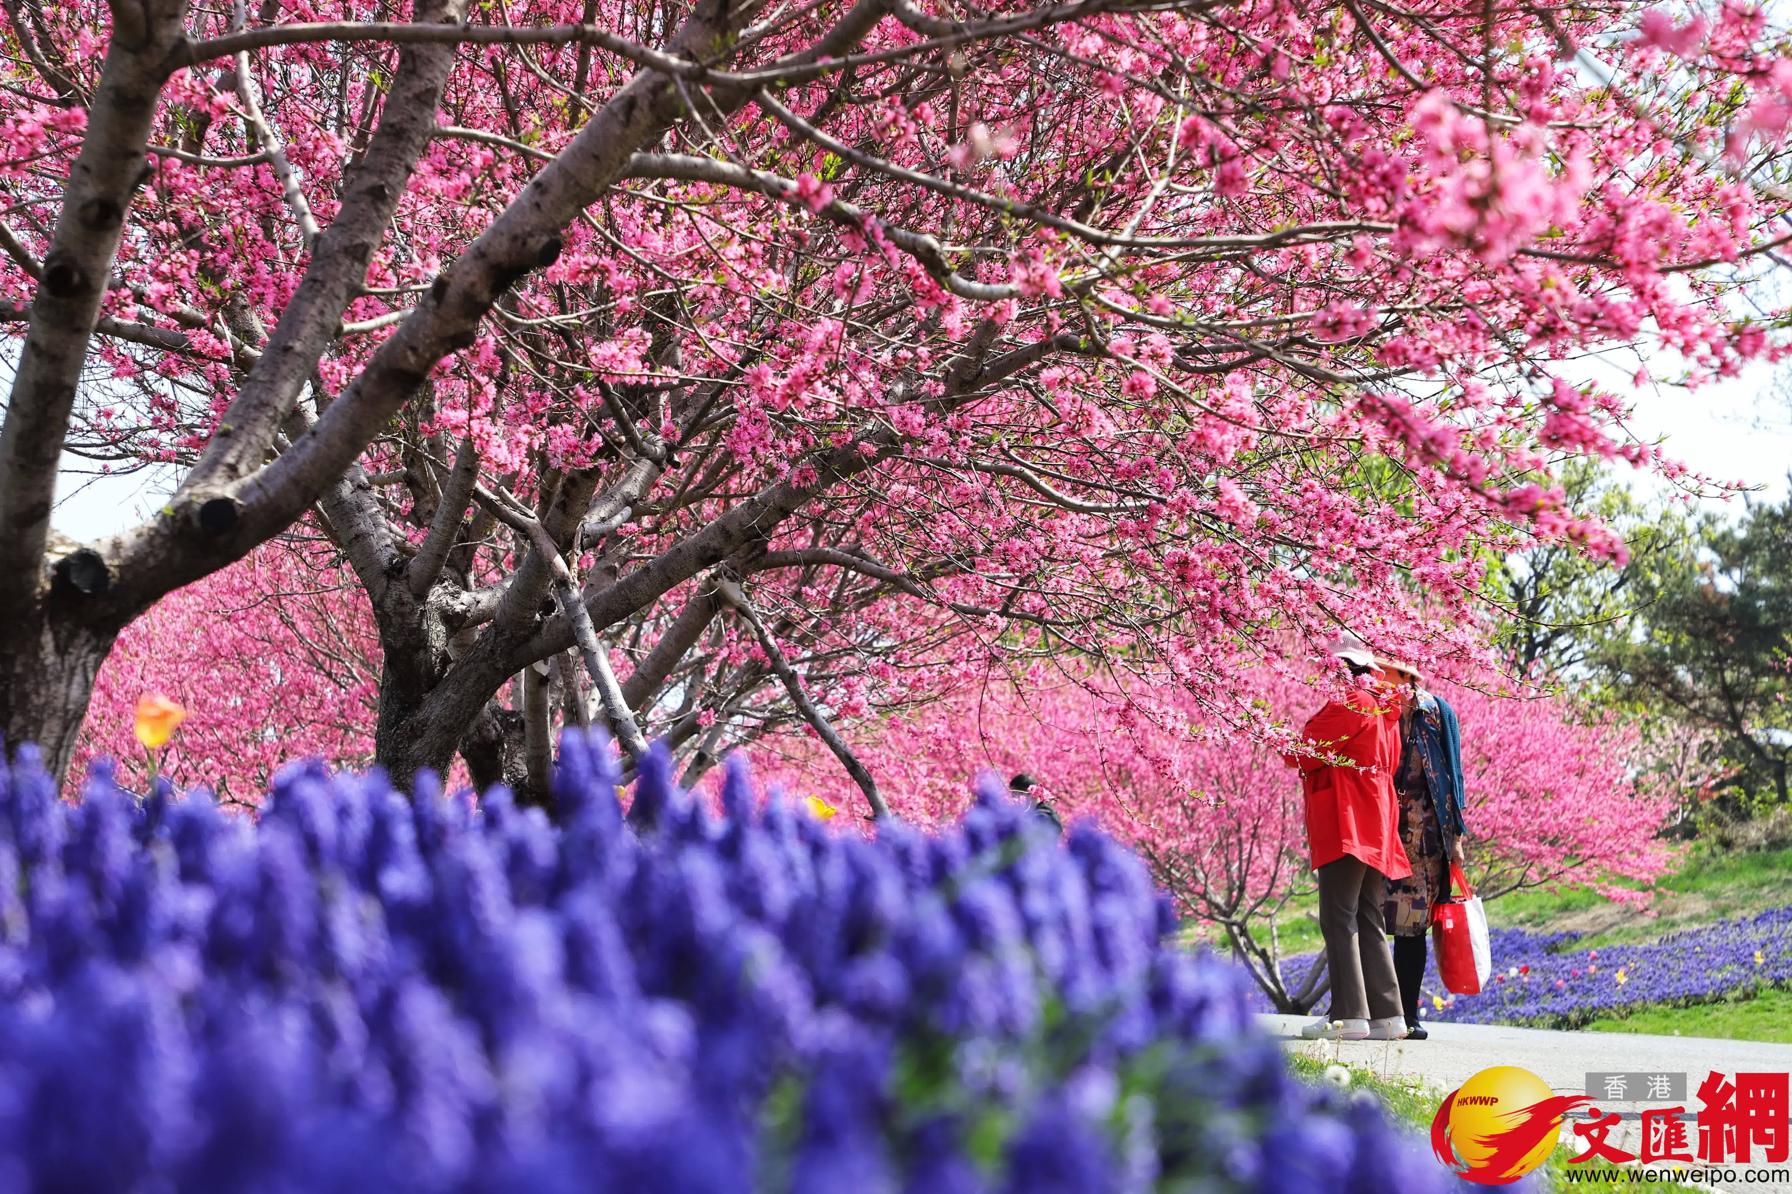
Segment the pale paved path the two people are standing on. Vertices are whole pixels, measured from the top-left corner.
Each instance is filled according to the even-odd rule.
[[[1439,1097],[1446,1090],[1455,1090],[1471,1074],[1489,1065],[1518,1065],[1550,1085],[1555,1094],[1590,1094],[1586,1076],[1598,1072],[1684,1072],[1688,1076],[1686,1110],[1699,1108],[1695,1096],[1699,1083],[1710,1070],[1722,1074],[1747,1072],[1792,1072],[1792,1045],[1769,1045],[1758,1040],[1717,1040],[1711,1036],[1643,1036],[1633,1033],[1554,1033],[1538,1028],[1505,1028],[1496,1024],[1426,1024],[1430,1040],[1414,1042],[1344,1042],[1344,1040],[1301,1040],[1301,1024],[1310,1017],[1263,1015],[1258,1017],[1272,1036],[1283,1040],[1283,1047],[1306,1053],[1308,1056],[1339,1060],[1351,1065],[1366,1065],[1385,1078],[1410,1076],[1421,1078],[1437,1087]],[[1597,1092],[1593,1092],[1597,1097]],[[1600,1099],[1604,1110],[1629,1112],[1622,1131],[1613,1135],[1613,1142],[1636,1153],[1640,1122],[1636,1113],[1647,1110],[1649,1103],[1611,1103]],[[1692,1131],[1688,1128],[1688,1131]],[[1566,1124],[1564,1139],[1573,1147],[1579,1139]],[[1697,1147],[1697,1135],[1693,1147]],[[1740,1167],[1736,1167],[1740,1169]],[[1792,1162],[1778,1169],[1792,1169]],[[1738,1180],[1719,1181],[1722,1190],[1792,1190],[1792,1181],[1763,1181],[1769,1171],[1756,1165],[1756,1173],[1742,1174]],[[1659,1189],[1659,1187],[1658,1187]]]

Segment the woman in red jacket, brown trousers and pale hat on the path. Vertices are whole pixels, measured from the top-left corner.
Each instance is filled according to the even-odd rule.
[[[1331,974],[1331,1011],[1301,1029],[1308,1040],[1400,1040],[1407,1019],[1382,924],[1387,879],[1412,874],[1400,845],[1400,707],[1380,693],[1374,655],[1357,637],[1331,644],[1351,671],[1342,698],[1315,712],[1301,734],[1306,752],[1285,755],[1301,770],[1306,843],[1319,874],[1319,933]]]

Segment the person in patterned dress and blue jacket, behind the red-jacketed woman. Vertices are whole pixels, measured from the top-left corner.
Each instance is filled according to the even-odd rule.
[[[1425,1040],[1419,1026],[1419,985],[1425,981],[1426,934],[1432,917],[1450,899],[1450,863],[1462,863],[1462,734],[1455,711],[1443,696],[1421,687],[1419,673],[1382,659],[1382,671],[1400,680],[1400,840],[1412,863],[1405,879],[1387,881],[1382,920],[1394,938],[1394,977],[1407,1040]]]

